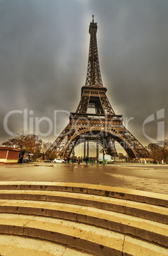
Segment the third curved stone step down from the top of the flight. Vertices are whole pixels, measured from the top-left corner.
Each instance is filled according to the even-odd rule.
[[[146,241],[157,243],[158,245],[168,245],[168,225],[132,217],[125,213],[98,210],[97,208],[74,204],[30,200],[6,201],[3,199],[0,200],[0,212],[73,220],[74,222],[90,224],[103,227],[110,231],[129,234]]]

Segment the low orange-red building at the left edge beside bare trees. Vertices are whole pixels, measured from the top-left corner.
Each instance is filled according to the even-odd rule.
[[[18,148],[0,146],[0,164],[17,164],[20,151]]]

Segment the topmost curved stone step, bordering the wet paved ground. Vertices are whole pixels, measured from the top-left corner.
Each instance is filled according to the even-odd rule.
[[[41,182],[41,181],[1,181],[1,190],[50,190],[77,192],[97,196],[114,197],[168,207],[168,195],[131,190],[127,188],[108,187],[85,183]]]

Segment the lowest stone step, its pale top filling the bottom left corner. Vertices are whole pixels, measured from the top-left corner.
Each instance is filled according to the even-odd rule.
[[[0,255],[4,256],[93,256],[43,239],[0,234]]]

